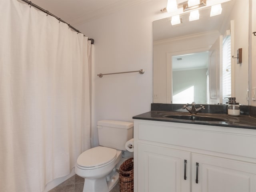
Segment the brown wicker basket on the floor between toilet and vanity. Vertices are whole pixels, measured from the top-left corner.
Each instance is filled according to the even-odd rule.
[[[133,158],[121,164],[119,175],[120,192],[133,192]]]

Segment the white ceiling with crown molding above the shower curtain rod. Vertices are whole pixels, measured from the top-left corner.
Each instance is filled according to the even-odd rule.
[[[19,0],[20,1],[20,0]],[[150,0],[31,0],[72,26],[106,16]],[[166,0],[167,2],[167,0]]]

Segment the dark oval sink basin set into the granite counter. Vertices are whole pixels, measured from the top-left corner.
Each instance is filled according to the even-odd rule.
[[[226,121],[223,118],[216,118],[210,116],[200,116],[200,115],[168,115],[165,116],[167,118],[174,118],[174,119],[183,119],[183,120],[194,120],[194,121]]]

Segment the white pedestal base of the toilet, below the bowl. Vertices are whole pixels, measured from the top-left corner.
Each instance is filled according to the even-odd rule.
[[[83,192],[109,192],[114,188],[118,180],[119,173],[116,171],[100,179],[85,178]]]

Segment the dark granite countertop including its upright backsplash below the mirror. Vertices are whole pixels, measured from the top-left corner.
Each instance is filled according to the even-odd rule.
[[[207,116],[211,118],[222,118],[225,121],[199,121],[168,118],[170,115],[189,115],[190,113],[183,109],[183,104],[161,104],[152,103],[151,111],[137,116],[133,119],[166,121],[177,123],[201,124],[212,126],[235,127],[245,129],[256,129],[256,107],[240,106],[240,116],[229,116],[226,105],[205,105],[205,110],[200,110],[196,116]]]

